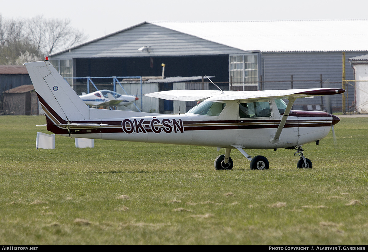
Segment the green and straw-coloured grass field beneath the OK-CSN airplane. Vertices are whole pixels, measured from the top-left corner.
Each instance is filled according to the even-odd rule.
[[[368,118],[319,145],[216,171],[215,148],[95,140],[36,150],[44,116],[0,117],[0,244],[368,244]],[[223,154],[224,150],[220,151]]]

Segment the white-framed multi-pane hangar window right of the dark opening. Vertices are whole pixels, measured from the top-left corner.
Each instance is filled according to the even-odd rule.
[[[258,90],[258,54],[229,56],[229,85],[231,90],[248,90],[245,86],[256,86]]]

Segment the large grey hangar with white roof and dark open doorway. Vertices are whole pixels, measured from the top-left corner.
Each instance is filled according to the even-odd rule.
[[[142,22],[49,60],[63,77],[161,76],[164,63],[166,77],[212,75],[226,90],[342,87],[342,53],[368,53],[366,27],[368,20]],[[345,95],[348,107],[354,87]],[[342,100],[298,99],[293,108],[341,111]]]

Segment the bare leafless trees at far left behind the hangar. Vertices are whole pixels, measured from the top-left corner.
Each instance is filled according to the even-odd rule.
[[[24,59],[42,60],[44,55],[69,48],[86,40],[72,28],[69,19],[4,19],[0,14],[0,64]]]

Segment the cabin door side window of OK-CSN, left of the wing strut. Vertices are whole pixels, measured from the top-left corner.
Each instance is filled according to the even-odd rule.
[[[270,117],[271,107],[268,101],[244,102],[239,104],[240,118]]]

